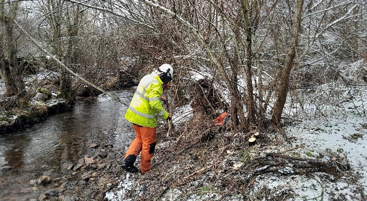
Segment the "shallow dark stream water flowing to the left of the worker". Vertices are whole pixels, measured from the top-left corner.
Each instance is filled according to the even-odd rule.
[[[133,92],[127,89],[115,94],[128,103]],[[126,106],[107,96],[77,100],[70,111],[21,131],[0,134],[0,200],[26,194],[30,180],[43,173],[42,166],[77,164],[92,143],[128,146],[134,132],[123,118],[125,111]]]

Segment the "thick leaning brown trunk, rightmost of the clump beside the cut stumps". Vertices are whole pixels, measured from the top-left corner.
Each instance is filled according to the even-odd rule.
[[[303,0],[297,0],[295,5],[294,12],[294,23],[292,29],[292,37],[290,41],[289,52],[285,62],[285,68],[281,70],[278,77],[278,94],[277,100],[274,104],[273,108],[273,117],[272,121],[276,126],[279,126],[280,119],[282,117],[286,96],[288,93],[288,83],[289,83],[289,75],[290,71],[294,64],[294,57],[296,54],[296,47],[298,43],[298,35],[301,25],[301,12],[302,12]]]

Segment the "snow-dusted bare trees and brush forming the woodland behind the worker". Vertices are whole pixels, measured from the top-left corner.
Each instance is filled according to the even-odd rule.
[[[234,130],[279,126],[287,95],[302,109],[302,94],[326,83],[366,84],[366,8],[365,0],[0,0],[1,110],[27,107],[39,87],[73,100],[85,81],[102,91],[129,86],[169,63],[171,106],[228,109]],[[25,83],[42,68],[57,77]]]

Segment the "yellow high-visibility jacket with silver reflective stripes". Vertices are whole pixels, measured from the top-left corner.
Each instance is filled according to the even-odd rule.
[[[125,119],[133,124],[150,128],[157,127],[158,116],[167,119],[168,112],[163,108],[161,102],[162,84],[156,72],[145,75],[132,97],[125,113]]]

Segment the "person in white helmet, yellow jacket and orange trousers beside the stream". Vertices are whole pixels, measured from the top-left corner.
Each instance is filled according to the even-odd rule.
[[[173,79],[173,67],[163,64],[151,74],[145,75],[139,82],[125,118],[133,124],[136,137],[131,142],[122,162],[122,168],[129,172],[138,172],[134,166],[136,157],[141,152],[140,172],[145,174],[152,168],[157,140],[157,118],[171,119],[172,114],[162,105],[162,85]]]

